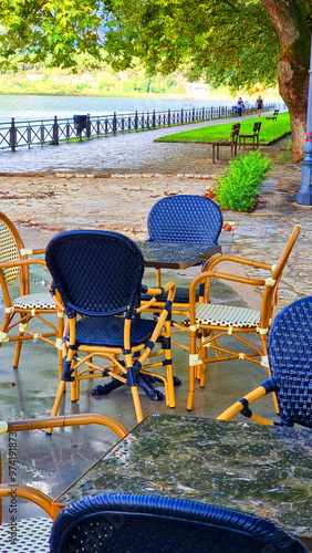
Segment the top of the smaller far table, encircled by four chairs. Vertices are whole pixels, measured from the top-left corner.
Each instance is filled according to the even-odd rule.
[[[156,269],[187,269],[221,251],[221,247],[214,243],[185,242],[136,242],[139,247],[145,267]]]

